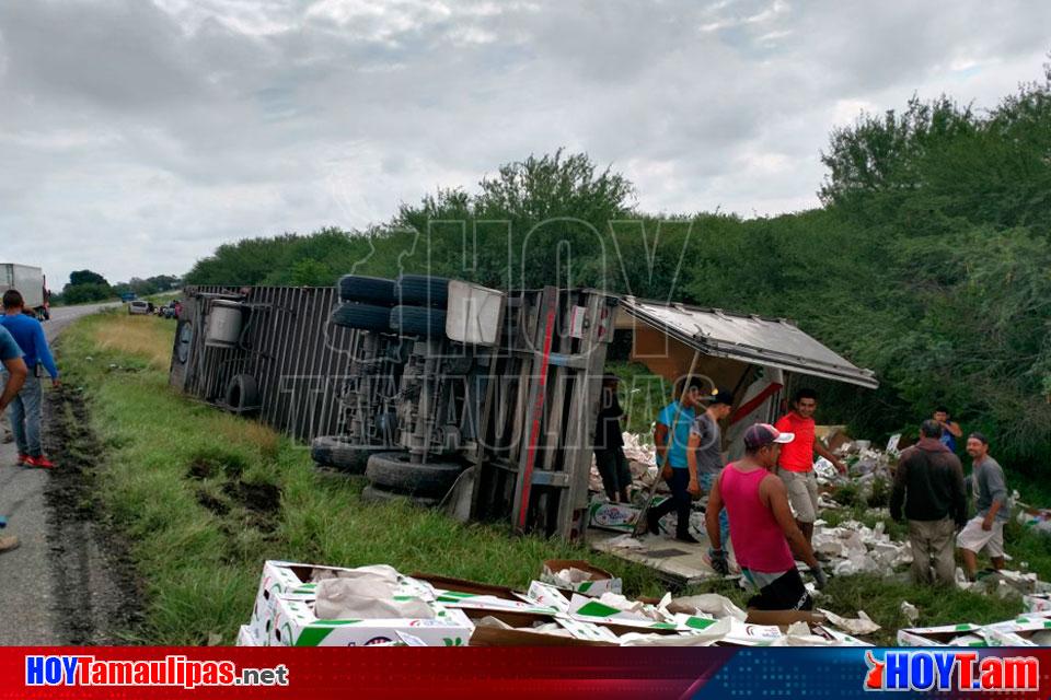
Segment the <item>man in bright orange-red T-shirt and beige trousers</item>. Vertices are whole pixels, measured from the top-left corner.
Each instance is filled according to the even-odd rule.
[[[793,410],[774,423],[783,433],[796,436],[781,451],[777,476],[788,489],[788,502],[796,514],[796,523],[809,544],[813,538],[813,522],[818,520],[818,478],[813,474],[813,453],[817,452],[846,474],[846,465],[815,439],[813,412],[818,410],[818,395],[813,389],[799,389]]]

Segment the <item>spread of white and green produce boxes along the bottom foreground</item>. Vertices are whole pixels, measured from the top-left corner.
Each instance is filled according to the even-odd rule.
[[[741,610],[717,594],[632,600],[619,579],[579,560],[550,560],[526,593],[391,567],[267,561],[240,646],[790,646],[868,645],[864,614]],[[1026,596],[1051,607],[1048,594]],[[898,631],[906,646],[1051,644],[1051,610],[994,625]]]

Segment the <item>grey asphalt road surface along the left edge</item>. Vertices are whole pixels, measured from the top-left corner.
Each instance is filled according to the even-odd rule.
[[[109,304],[58,307],[51,311],[51,319],[44,324],[48,342],[53,342],[70,322],[92,314]],[[45,382],[45,393],[50,383]],[[44,424],[47,431],[47,424]],[[61,468],[61,465],[58,465]],[[2,534],[16,535],[22,545],[13,551],[0,553],[0,644],[37,645],[93,643],[95,640],[78,638],[69,632],[63,619],[70,614],[62,605],[65,580],[57,569],[60,557],[54,541],[55,522],[61,513],[51,513],[47,506],[45,490],[54,475],[44,469],[18,466],[18,448],[13,442],[0,444],[0,514],[8,516],[8,527]],[[89,587],[105,591],[112,583],[105,581],[105,565],[97,546],[89,536],[83,539],[83,551],[70,552],[82,559],[85,569],[93,573]],[[93,563],[94,562],[94,563]],[[90,593],[90,592],[81,592]],[[90,597],[86,606],[91,606]],[[73,611],[78,614],[78,611]],[[81,610],[91,615],[91,610]]]

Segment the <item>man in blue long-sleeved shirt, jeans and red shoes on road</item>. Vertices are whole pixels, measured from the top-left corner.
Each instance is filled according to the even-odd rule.
[[[51,469],[50,459],[44,456],[41,446],[41,409],[44,402],[44,389],[41,386],[41,365],[51,376],[51,384],[58,386],[58,368],[51,358],[51,350],[44,337],[44,326],[36,318],[30,318],[23,312],[25,302],[18,290],[9,289],[3,293],[3,316],[0,325],[14,336],[25,357],[28,376],[18,397],[11,401],[8,417],[11,432],[19,445],[19,464],[28,467]]]

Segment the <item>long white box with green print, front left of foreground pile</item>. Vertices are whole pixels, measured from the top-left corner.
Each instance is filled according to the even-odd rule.
[[[369,646],[412,635],[427,646],[465,646],[474,625],[462,610],[428,603],[434,619],[319,620],[314,602],[277,598],[272,646]]]

